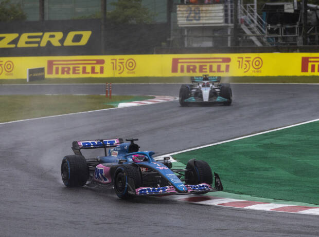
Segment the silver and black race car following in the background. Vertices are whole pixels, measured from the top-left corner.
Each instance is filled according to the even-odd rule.
[[[190,85],[182,85],[180,89],[180,104],[191,103],[222,103],[231,105],[233,101],[232,88],[229,83],[220,83],[220,76],[192,76]]]

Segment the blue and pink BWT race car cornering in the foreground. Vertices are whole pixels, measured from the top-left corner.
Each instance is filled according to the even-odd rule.
[[[221,191],[223,185],[213,177],[205,161],[191,159],[185,169],[171,169],[170,157],[154,160],[152,151],[138,151],[137,139],[75,141],[74,155],[66,155],[61,164],[66,187],[113,185],[120,199],[168,194],[204,194]],[[104,156],[86,159],[81,150],[103,148]]]

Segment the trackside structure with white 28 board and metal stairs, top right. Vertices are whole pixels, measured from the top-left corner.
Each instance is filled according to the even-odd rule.
[[[256,0],[191,2],[177,8],[185,47],[319,45],[319,5],[266,3],[259,15]]]

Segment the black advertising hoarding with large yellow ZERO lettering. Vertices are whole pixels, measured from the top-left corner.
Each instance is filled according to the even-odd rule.
[[[0,56],[99,54],[99,19],[0,24]]]

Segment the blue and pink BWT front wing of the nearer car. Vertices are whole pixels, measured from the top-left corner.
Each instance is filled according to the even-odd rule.
[[[168,194],[192,194],[200,192],[216,192],[221,191],[217,188],[212,188],[209,184],[202,183],[197,185],[185,185],[187,187],[187,192],[178,192],[173,186],[165,187],[141,187],[135,189],[137,196],[154,196],[154,195],[168,195]]]

